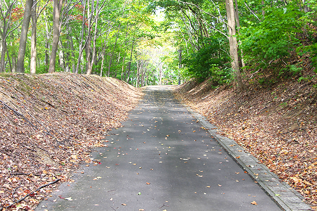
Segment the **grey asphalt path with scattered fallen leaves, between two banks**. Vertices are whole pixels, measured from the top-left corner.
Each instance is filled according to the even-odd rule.
[[[101,164],[83,165],[37,211],[281,210],[168,88],[145,93],[92,153]]]

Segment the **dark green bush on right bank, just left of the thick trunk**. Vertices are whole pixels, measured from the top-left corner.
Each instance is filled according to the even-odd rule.
[[[216,37],[205,39],[204,48],[183,60],[183,64],[188,68],[188,75],[200,81],[211,77],[215,85],[228,83],[232,78],[230,69],[226,67],[230,57],[220,49],[226,42]]]

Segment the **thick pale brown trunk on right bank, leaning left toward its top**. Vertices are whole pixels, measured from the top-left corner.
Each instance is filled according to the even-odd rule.
[[[234,70],[235,81],[240,91],[246,89],[245,84],[242,83],[241,73],[239,69],[239,58],[238,58],[238,42],[236,38],[236,24],[234,20],[234,6],[232,0],[225,0],[227,20],[228,20],[228,32],[229,32],[229,46],[231,56],[231,68]]]

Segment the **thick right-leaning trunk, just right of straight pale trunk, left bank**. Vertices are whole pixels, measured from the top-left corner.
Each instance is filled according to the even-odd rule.
[[[54,0],[53,6],[53,42],[52,42],[52,51],[50,58],[50,67],[49,73],[55,72],[55,63],[56,63],[56,52],[59,42],[59,18],[61,7],[63,5],[63,0]]]

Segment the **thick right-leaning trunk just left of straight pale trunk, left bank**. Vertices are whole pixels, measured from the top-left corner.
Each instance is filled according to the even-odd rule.
[[[25,56],[28,29],[29,29],[29,24],[31,19],[32,5],[33,5],[33,0],[26,0],[23,23],[21,28],[20,42],[19,42],[20,45],[19,45],[18,61],[16,65],[16,72],[18,73],[24,73],[24,56]]]

